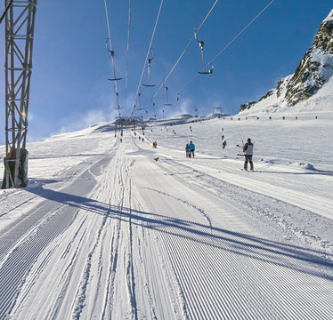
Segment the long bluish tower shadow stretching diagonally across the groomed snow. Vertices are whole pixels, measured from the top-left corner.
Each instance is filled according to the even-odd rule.
[[[27,189],[27,191],[42,196],[47,200],[68,204],[86,212],[106,215],[110,219],[118,219],[127,223],[130,219],[132,224],[142,228],[155,229],[158,232],[213,247],[217,250],[214,254],[218,254],[219,250],[221,252],[233,252],[283,268],[319,276],[330,281],[333,280],[330,272],[315,269],[316,267],[324,267],[329,268],[329,271],[333,270],[333,261],[321,258],[322,252],[320,251],[249,236],[223,228],[215,228],[190,220],[167,217],[154,212],[142,212],[126,207],[121,208],[115,205],[104,204],[85,196],[75,196],[42,187]],[[329,256],[329,258],[333,258],[333,256]],[[305,263],[310,263],[313,266]]]

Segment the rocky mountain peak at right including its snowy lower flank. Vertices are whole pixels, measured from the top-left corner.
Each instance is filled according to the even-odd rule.
[[[314,37],[313,45],[305,53],[295,73],[280,79],[277,87],[267,92],[259,101],[241,105],[240,112],[249,109],[256,112],[278,112],[296,105],[299,107],[299,103],[311,97],[322,100],[322,94],[327,95],[327,92],[333,92],[333,82],[330,81],[332,75],[333,10],[322,21],[321,28]],[[324,84],[327,84],[326,91],[321,92]],[[333,95],[330,100],[333,100]]]

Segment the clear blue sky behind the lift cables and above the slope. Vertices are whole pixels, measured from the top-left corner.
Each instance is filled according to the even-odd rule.
[[[205,60],[212,60],[269,2],[218,1],[199,30],[198,37],[205,42]],[[164,0],[152,43],[155,57],[150,82],[157,86],[141,89],[142,107],[147,108],[149,116],[151,97],[214,3],[215,0]],[[134,104],[160,1],[132,0],[125,94],[128,4],[126,0],[107,0],[116,71],[123,77],[118,82],[118,91],[125,116]],[[229,114],[238,113],[241,103],[258,100],[276,86],[280,77],[295,71],[331,9],[329,0],[275,0],[214,61],[212,75],[197,76],[202,61],[199,44],[193,41],[167,80],[173,105],[165,108],[165,116],[194,114],[194,108],[199,109],[199,115],[206,115],[213,107],[221,107]],[[38,1],[35,28],[28,141],[43,140],[57,132],[85,128],[117,116],[113,84],[108,81],[112,70],[105,48],[108,28],[104,0]],[[4,24],[1,32],[4,35]],[[0,65],[4,66],[4,36],[1,44]],[[0,76],[4,97],[4,70]],[[161,118],[166,102],[164,89],[154,102]],[[0,143],[4,144],[4,98],[1,106]]]

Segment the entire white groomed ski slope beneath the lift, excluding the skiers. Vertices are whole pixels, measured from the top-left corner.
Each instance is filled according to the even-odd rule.
[[[332,319],[332,118],[30,144],[28,188],[0,191],[0,319]]]

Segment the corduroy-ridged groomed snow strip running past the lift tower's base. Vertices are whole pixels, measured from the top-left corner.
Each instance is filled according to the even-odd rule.
[[[97,166],[98,164],[97,162]],[[105,164],[104,158],[100,160],[100,165],[103,164]],[[68,194],[67,188],[61,189],[61,192],[51,189],[41,191],[33,188],[32,191],[40,193],[40,196],[47,200],[39,204],[34,211],[28,212],[24,220],[0,238],[3,244],[0,248],[0,257],[5,258],[0,268],[0,319],[11,311],[20,287],[24,284],[25,276],[28,275],[29,269],[39,254],[43,252],[47,244],[69,227],[81,205],[74,204],[75,200],[79,200],[93,188],[94,180],[89,169],[75,178],[73,181],[77,185],[75,195]],[[82,184],[81,178],[86,178],[84,184]],[[68,189],[72,190],[73,184]],[[52,205],[50,205],[50,201],[53,201]],[[27,237],[25,234],[29,229],[32,232]],[[25,237],[20,243],[22,236]],[[15,244],[16,246],[14,246]],[[6,254],[7,256],[5,256]]]

